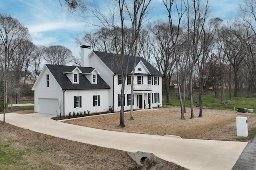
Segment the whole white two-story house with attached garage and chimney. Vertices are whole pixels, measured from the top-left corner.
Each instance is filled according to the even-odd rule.
[[[128,57],[128,56],[125,56]],[[130,57],[125,84],[124,110],[162,106],[162,74],[144,58],[137,57],[134,100],[131,101],[131,76],[134,59]],[[73,111],[120,111],[122,86],[117,55],[91,51],[81,46],[81,66],[46,64],[32,90],[35,112],[68,115]]]

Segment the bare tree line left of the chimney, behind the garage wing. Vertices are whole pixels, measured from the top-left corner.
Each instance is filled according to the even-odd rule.
[[[4,113],[8,94],[25,85],[28,73],[36,78],[42,63],[65,65],[73,61],[70,49],[61,45],[36,46],[27,27],[10,15],[0,14],[0,107]]]

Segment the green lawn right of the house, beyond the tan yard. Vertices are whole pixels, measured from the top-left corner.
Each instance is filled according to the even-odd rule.
[[[170,103],[166,103],[166,96],[163,96],[163,105],[167,106],[180,106],[180,101],[178,96],[170,96]],[[199,106],[198,94],[195,94],[195,101],[193,103],[194,107]],[[186,101],[186,106],[190,107],[190,100]],[[222,110],[237,110],[238,107],[245,107],[247,109],[256,110],[256,97],[245,98],[245,97],[232,97],[229,100],[228,93],[224,94],[224,102],[221,103],[220,94],[218,97],[214,97],[214,93],[207,93],[203,96],[203,106],[208,109],[222,109]]]

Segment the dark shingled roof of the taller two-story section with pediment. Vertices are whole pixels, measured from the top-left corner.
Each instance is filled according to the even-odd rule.
[[[121,67],[118,61],[118,55],[112,54],[112,53],[104,53],[99,51],[93,51],[101,60],[103,63],[110,68],[114,74],[121,74]],[[124,56],[124,61],[127,61],[128,56]],[[152,66],[146,59],[142,57],[137,57],[136,64],[138,64],[140,61],[143,62],[143,64],[147,67],[150,74],[144,74],[144,75],[151,75],[151,76],[163,76],[161,72],[159,72],[154,66]],[[128,64],[128,73],[132,72],[134,64],[134,58],[130,56],[129,64]]]

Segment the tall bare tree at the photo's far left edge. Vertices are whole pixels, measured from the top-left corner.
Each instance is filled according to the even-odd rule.
[[[15,51],[22,41],[29,38],[28,28],[24,27],[17,19],[0,14],[0,50],[2,50],[0,52],[0,74],[4,86],[4,123],[7,95],[13,85],[10,75],[12,59],[15,57]]]

